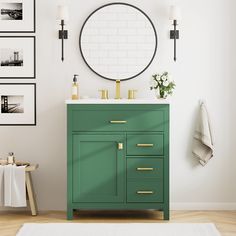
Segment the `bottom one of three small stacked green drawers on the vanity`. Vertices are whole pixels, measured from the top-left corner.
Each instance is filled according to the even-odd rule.
[[[127,202],[163,202],[163,182],[128,182]]]

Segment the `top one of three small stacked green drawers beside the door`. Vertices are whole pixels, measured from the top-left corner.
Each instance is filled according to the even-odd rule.
[[[164,155],[164,135],[155,133],[138,133],[127,135],[127,155]]]

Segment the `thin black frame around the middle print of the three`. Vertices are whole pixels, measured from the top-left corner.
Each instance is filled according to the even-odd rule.
[[[32,76],[1,76],[1,72],[0,72],[0,80],[1,79],[35,79],[36,78],[36,37],[35,36],[16,36],[16,35],[14,35],[14,36],[12,36],[12,35],[10,35],[10,36],[0,36],[0,40],[1,40],[1,38],[31,38],[31,39],[33,39],[33,48],[32,48],[32,50],[33,50],[33,60],[34,60],[34,62],[33,62],[33,75]],[[0,44],[0,46],[1,46],[1,44]],[[1,69],[1,68],[0,68]]]

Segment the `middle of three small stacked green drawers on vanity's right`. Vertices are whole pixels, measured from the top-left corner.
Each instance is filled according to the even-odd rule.
[[[163,160],[150,157],[127,158],[128,178],[163,178]]]

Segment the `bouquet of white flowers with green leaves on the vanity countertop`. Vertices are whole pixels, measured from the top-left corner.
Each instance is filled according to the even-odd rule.
[[[156,90],[160,98],[167,98],[168,95],[172,95],[175,86],[175,82],[170,80],[168,72],[155,74],[151,78],[150,89]]]

